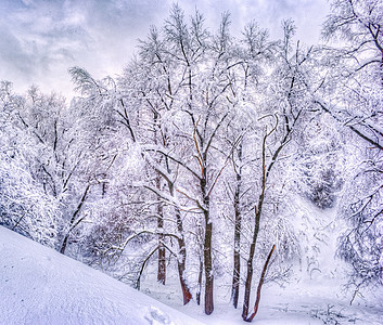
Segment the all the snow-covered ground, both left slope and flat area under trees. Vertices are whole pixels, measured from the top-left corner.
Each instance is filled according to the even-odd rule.
[[[347,269],[334,259],[341,226],[335,209],[320,210],[305,200],[297,200],[296,206],[294,226],[303,240],[302,263],[283,287],[264,285],[253,323],[383,324],[381,287],[363,291],[349,304],[352,292],[343,286]],[[177,278],[169,277],[166,286],[151,278],[146,276],[141,287],[156,300],[0,226],[1,325],[244,324],[240,308],[234,310],[229,302],[230,281],[217,278],[215,311],[207,316],[194,301],[182,306]]]

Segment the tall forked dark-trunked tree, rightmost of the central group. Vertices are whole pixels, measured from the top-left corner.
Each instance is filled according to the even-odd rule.
[[[259,107],[258,113],[258,198],[254,205],[254,225],[250,251],[246,259],[245,291],[243,299],[242,318],[251,321],[248,315],[251,288],[254,274],[254,258],[256,244],[260,233],[260,221],[265,214],[265,205],[271,196],[269,183],[281,154],[293,139],[296,129],[302,127],[303,117],[312,108],[312,87],[310,68],[312,65],[312,49],[302,49],[299,42],[294,47],[293,36],[295,26],[292,21],[283,22],[284,38],[279,44],[279,61],[273,73],[269,76],[271,92],[265,92],[266,106]],[[272,80],[272,81],[271,81]],[[272,110],[270,110],[270,108]],[[273,114],[271,113],[273,112]],[[278,250],[277,250],[278,253]],[[268,264],[268,263],[267,263]],[[267,268],[267,266],[266,266]],[[265,271],[266,272],[266,271]],[[264,276],[261,276],[263,278]],[[261,280],[263,281],[263,280]],[[260,284],[261,286],[261,284]],[[259,290],[260,290],[259,286]],[[253,316],[254,317],[254,316]]]

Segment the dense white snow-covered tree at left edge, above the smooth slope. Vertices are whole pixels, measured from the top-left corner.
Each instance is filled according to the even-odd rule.
[[[1,82],[0,89],[0,223],[35,240],[55,247],[60,231],[60,202],[36,179],[30,157],[39,142],[21,120],[25,98]]]

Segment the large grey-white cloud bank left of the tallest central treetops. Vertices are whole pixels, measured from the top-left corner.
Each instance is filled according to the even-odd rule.
[[[0,9],[0,62],[5,66],[0,79],[44,88],[63,86],[66,78],[64,92],[71,93],[68,67],[84,66],[97,77],[120,72],[137,38],[162,21],[168,8],[164,1],[145,0],[5,0]]]

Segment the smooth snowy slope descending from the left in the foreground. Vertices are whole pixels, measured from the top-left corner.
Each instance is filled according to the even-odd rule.
[[[0,324],[201,324],[0,226]]]

